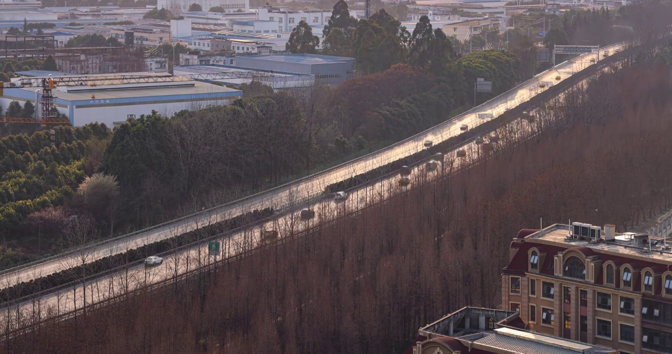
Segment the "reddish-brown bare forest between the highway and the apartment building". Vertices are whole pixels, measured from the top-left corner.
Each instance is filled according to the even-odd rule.
[[[415,176],[418,186],[356,217],[290,229],[284,242],[186,283],[46,322],[4,345],[34,353],[402,353],[443,314],[497,306],[507,247],[540,217],[546,225],[615,223],[621,232],[672,205],[665,60],[633,56],[551,99],[534,123],[499,129],[508,148],[472,168]],[[516,141],[507,141],[511,132]]]

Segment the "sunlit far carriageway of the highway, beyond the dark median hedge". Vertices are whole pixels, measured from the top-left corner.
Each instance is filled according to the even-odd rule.
[[[604,49],[613,51],[613,48],[610,47]],[[603,50],[600,50],[600,55],[602,54]],[[560,80],[564,80],[575,72],[583,70],[587,66],[591,65],[591,59],[596,58],[597,53],[589,53],[559,64],[552,70],[549,70],[545,74],[541,74],[526,84],[522,84],[514,90],[511,90],[509,93],[495,97],[495,99],[492,99],[480,107],[477,107],[477,111],[459,115],[450,121],[446,121],[437,125],[436,127],[433,127],[425,133],[419,134],[413,139],[396,143],[388,148],[378,150],[378,152],[374,152],[368,156],[364,156],[364,158],[360,158],[359,160],[350,162],[339,168],[335,168],[325,174],[309,176],[308,178],[298,180],[292,184],[289,184],[288,186],[276,188],[257,196],[245,198],[239,202],[236,202],[235,204],[229,204],[227,206],[218,208],[208,213],[203,213],[190,219],[176,221],[175,223],[147,231],[146,233],[132,235],[130,237],[124,238],[122,241],[101,245],[95,248],[93,252],[90,252],[90,254],[87,252],[87,262],[117,253],[124,253],[128,251],[128,249],[134,249],[142,245],[168,239],[174,237],[175,235],[180,235],[181,233],[198,229],[204,225],[210,225],[218,221],[230,219],[231,217],[235,217],[247,211],[253,211],[254,209],[263,209],[267,207],[273,207],[275,209],[282,208],[294,200],[298,200],[310,194],[321,192],[325,186],[328,186],[329,184],[345,180],[351,176],[367,172],[377,168],[378,166],[388,164],[389,162],[393,162],[411,154],[415,154],[416,152],[419,152],[423,149],[423,143],[425,140],[431,140],[434,144],[436,144],[455,135],[459,135],[461,133],[460,125],[466,124],[468,125],[469,129],[472,129],[473,127],[485,122],[485,120],[479,119],[476,113],[491,113],[493,117],[497,117],[505,111],[519,105],[520,103],[530,100],[532,97],[538,95],[538,93],[544,91],[546,88],[541,88],[539,85],[540,82],[553,82],[556,84],[559,82],[559,80],[556,80],[556,76],[560,76]],[[58,259],[32,265],[16,272],[5,274],[0,277],[0,289],[17,284],[19,282],[26,282],[28,280],[52,274],[54,272],[60,272],[62,270],[72,268],[73,266],[81,263],[81,259],[78,259],[78,257],[79,255],[77,254],[67,255]],[[165,265],[163,265],[163,267],[165,268]],[[159,270],[152,270],[151,278],[158,277],[159,275],[156,273],[160,274],[161,272]]]

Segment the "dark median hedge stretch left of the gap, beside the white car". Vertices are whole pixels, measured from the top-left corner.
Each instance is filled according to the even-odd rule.
[[[22,298],[24,296],[30,296],[31,294],[36,294],[40,291],[56,288],[57,286],[62,286],[71,282],[77,282],[81,280],[82,274],[85,274],[86,276],[102,274],[118,267],[119,265],[140,261],[149,255],[170,251],[171,249],[188,245],[200,239],[207,239],[208,237],[255,223],[256,221],[271,217],[274,215],[274,213],[275,211],[272,208],[262,209],[261,211],[251,211],[243,215],[221,221],[220,223],[208,225],[198,230],[183,233],[182,235],[178,235],[172,239],[157,241],[155,243],[144,245],[136,249],[130,249],[124,253],[118,253],[116,255],[98,259],[97,261],[87,263],[87,265],[77,265],[75,267],[69,268],[68,270],[62,270],[58,273],[49,274],[48,276],[44,276],[42,278],[30,280],[30,282],[22,282],[16,284],[15,286],[0,290],[0,303]]]

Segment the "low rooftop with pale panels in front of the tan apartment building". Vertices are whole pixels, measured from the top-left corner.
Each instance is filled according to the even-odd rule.
[[[406,354],[616,354],[613,349],[540,335],[524,328],[518,312],[464,307],[418,331]]]

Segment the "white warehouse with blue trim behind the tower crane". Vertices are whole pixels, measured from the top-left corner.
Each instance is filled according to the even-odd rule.
[[[71,125],[75,127],[93,122],[114,127],[126,121],[130,115],[140,117],[143,114],[149,115],[154,110],[162,115],[171,116],[183,109],[228,105],[243,95],[241,91],[233,88],[207,82],[165,80],[166,76],[171,76],[165,73],[135,72],[124,75],[156,76],[157,81],[162,82],[58,86],[52,91],[52,95],[56,97],[56,108],[60,113],[65,113]],[[96,76],[105,75],[87,77]],[[160,79],[161,76],[164,79]],[[58,77],[52,76],[52,78]],[[35,95],[35,88],[5,88],[5,95],[0,97],[0,105],[7,107],[11,101],[19,101],[24,105],[28,100],[34,102]],[[37,107],[37,111],[40,110],[41,107]]]

